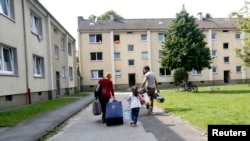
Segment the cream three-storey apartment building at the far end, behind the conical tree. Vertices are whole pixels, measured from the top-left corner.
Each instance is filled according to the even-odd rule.
[[[112,17],[112,16],[111,16]],[[160,88],[174,85],[174,70],[160,61],[165,31],[172,19],[86,20],[78,17],[80,72],[84,90],[92,90],[98,79],[112,72],[116,89],[140,85],[142,68],[149,65]],[[197,85],[241,83],[250,78],[235,50],[242,50],[246,35],[237,30],[234,19],[197,18],[211,50],[211,69],[189,72]],[[247,75],[248,74],[248,75]]]

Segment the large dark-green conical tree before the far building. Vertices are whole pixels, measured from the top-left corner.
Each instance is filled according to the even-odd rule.
[[[170,70],[182,69],[186,72],[210,69],[211,56],[204,39],[205,35],[198,28],[195,18],[189,16],[183,6],[166,30],[161,65]]]

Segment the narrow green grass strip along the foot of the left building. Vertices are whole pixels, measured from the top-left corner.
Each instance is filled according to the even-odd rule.
[[[27,119],[38,116],[42,113],[64,106],[77,98],[57,98],[46,102],[28,105],[22,108],[0,112],[0,127],[15,126]]]

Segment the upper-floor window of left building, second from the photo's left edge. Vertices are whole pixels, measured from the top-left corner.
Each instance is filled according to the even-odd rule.
[[[42,41],[42,20],[37,15],[31,13],[30,17],[31,32],[36,34],[39,41]]]

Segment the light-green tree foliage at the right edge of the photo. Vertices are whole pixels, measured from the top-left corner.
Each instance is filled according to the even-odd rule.
[[[236,17],[236,22],[238,24],[238,29],[247,34],[250,33],[250,2],[245,1],[245,5],[238,11],[232,12],[229,17]],[[244,39],[245,45],[243,48],[243,53],[236,50],[236,53],[243,60],[245,66],[250,66],[250,38],[246,37]]]

